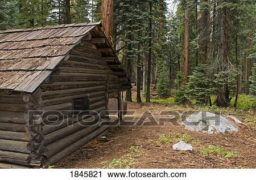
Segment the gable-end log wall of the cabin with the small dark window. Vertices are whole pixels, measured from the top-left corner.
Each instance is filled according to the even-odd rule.
[[[101,59],[101,53],[85,46],[74,49],[68,61],[53,74],[52,84],[42,84],[42,109],[61,110],[51,118],[43,118],[46,165],[55,164],[69,153],[105,131],[101,119],[108,118],[109,87],[118,89],[112,70]],[[116,82],[114,82],[116,83]],[[89,97],[89,114],[73,118],[74,99]],[[76,103],[79,101],[76,101]],[[82,102],[77,106],[82,106]],[[103,112],[101,114],[98,114]],[[58,118],[56,118],[58,117]],[[55,118],[55,119],[54,119]],[[50,119],[50,121],[49,121]]]

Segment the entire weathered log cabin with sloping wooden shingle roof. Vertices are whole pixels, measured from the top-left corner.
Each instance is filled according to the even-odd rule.
[[[129,88],[101,23],[0,31],[0,168],[56,164],[107,130],[111,93],[121,120]]]

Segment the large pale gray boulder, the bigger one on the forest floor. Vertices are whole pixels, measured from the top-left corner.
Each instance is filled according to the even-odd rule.
[[[225,117],[209,112],[195,112],[189,115],[182,124],[191,131],[200,131],[207,134],[237,131],[237,127]]]

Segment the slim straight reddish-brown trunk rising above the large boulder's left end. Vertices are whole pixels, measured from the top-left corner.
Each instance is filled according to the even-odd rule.
[[[189,76],[189,10],[185,5],[185,31],[184,31],[184,62],[183,62],[184,84],[188,83]]]

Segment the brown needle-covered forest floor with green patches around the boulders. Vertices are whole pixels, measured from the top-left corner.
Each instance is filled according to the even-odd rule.
[[[135,95],[133,89],[134,98]],[[129,103],[128,109],[135,110],[137,118],[147,110],[156,118],[162,110],[204,110],[154,103]],[[246,118],[256,119],[255,110],[242,110],[239,114],[234,114],[232,110],[218,113],[236,116],[242,122]],[[256,168],[254,125],[236,124],[238,132],[209,135],[186,130],[181,125],[180,118],[172,121],[178,123],[170,121],[164,126],[110,127],[104,133],[108,138],[107,142],[100,137],[94,139],[61,160],[55,168]],[[172,145],[179,140],[189,142],[193,151],[173,151]],[[221,157],[217,154],[203,156],[202,149],[209,145],[220,145],[226,152],[230,152],[232,157]]]

